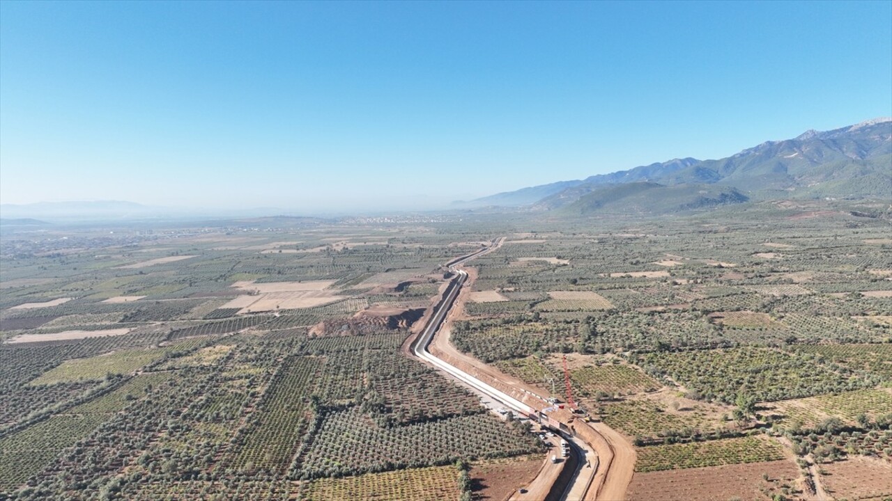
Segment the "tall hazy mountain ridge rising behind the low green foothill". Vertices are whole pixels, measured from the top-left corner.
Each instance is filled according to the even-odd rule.
[[[793,139],[768,141],[721,160],[668,160],[465,203],[470,207],[554,210],[602,186],[638,182],[724,185],[756,200],[892,199],[892,119],[871,119],[826,132],[809,130]],[[535,194],[543,196],[531,201]]]

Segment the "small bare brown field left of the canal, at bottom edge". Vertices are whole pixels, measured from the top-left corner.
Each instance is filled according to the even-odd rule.
[[[541,467],[541,455],[475,464],[470,472],[475,499],[507,499],[521,486],[532,482]]]

